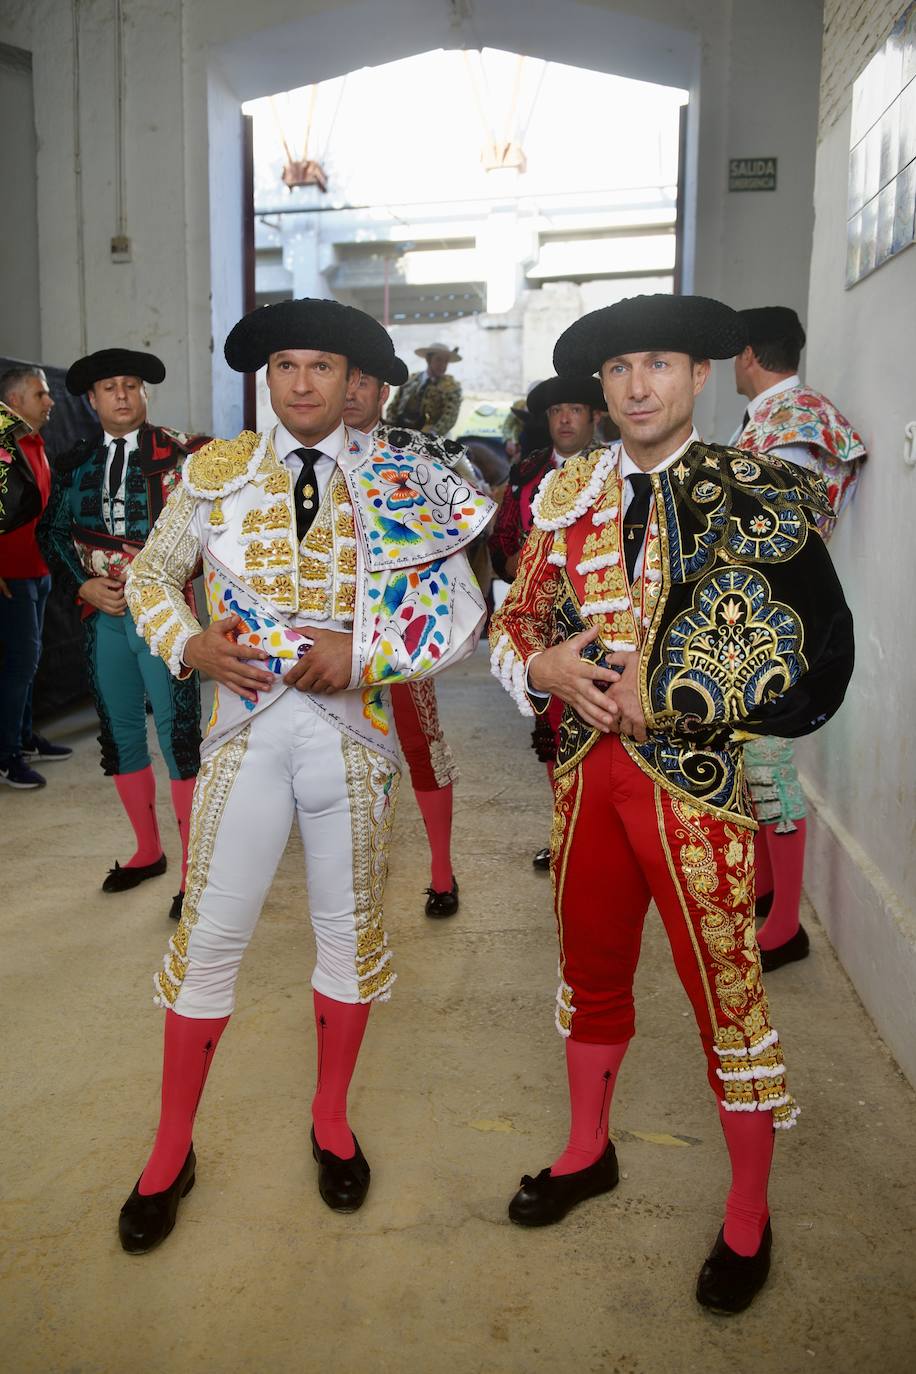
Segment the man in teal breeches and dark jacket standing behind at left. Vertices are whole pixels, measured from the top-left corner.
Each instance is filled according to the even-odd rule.
[[[152,353],[108,348],[78,359],[66,376],[71,396],[87,396],[99,418],[96,438],[80,440],[55,462],[40,540],[52,573],[82,607],[89,682],[99,713],[102,768],[114,778],[136,837],[125,864],[115,860],[102,883],[119,893],[166,871],[147,746],[147,701],[169,771],[181,837],[181,888],[169,915],[181,915],[194,780],[201,767],[201,692],[196,673],[174,683],[137,635],[124,598],[132,559],[143,548],[181,463],[209,436],[188,436],[147,420],[147,383],[165,381]]]

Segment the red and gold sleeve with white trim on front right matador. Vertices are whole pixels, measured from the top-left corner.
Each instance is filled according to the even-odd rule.
[[[527,664],[549,649],[553,603],[559,588],[558,565],[551,561],[553,533],[534,529],[519,558],[508,595],[490,621],[490,666],[523,716],[534,706],[526,690]]]

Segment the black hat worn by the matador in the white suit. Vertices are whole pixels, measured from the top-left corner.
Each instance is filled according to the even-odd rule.
[[[224,352],[236,372],[257,372],[272,353],[286,349],[339,353],[372,376],[382,376],[394,360],[390,335],[371,315],[312,297],[251,311],[229,331]]]

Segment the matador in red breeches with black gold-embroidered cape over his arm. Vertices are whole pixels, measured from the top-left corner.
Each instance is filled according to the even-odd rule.
[[[798,1114],[761,981],[742,742],[816,730],[853,665],[816,523],[829,513],[823,482],[694,429],[709,359],[743,342],[728,306],[670,295],[595,311],[560,337],[558,372],[600,371],[621,441],[540,488],[490,631],[494,671],[523,713],[566,702],[551,870],[571,1128],[563,1154],[522,1179],[509,1217],[559,1221],[618,1183],[608,1110],[654,901],[732,1165],[696,1286],[718,1312],[742,1311],[766,1281],[775,1128]],[[677,1062],[672,1050],[672,1072]]]

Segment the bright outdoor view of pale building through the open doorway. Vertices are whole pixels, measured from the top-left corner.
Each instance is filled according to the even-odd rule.
[[[584,311],[672,290],[685,100],[494,49],[254,100],[257,300],[334,295],[411,364],[444,338],[467,390],[515,397]]]

